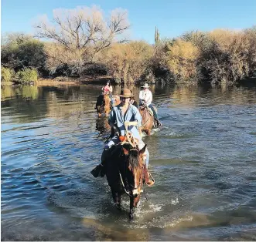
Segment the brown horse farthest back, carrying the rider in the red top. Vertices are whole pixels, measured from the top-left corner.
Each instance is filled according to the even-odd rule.
[[[118,105],[120,103],[119,96],[113,96],[114,99],[114,106]],[[104,113],[106,116],[111,113],[111,97],[108,94],[100,95],[97,97],[97,103],[95,109],[97,110],[97,115],[101,117],[102,113]]]

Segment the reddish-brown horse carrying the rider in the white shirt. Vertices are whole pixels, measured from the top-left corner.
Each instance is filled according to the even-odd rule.
[[[157,112],[155,106],[153,106],[155,109],[155,112]],[[153,116],[152,110],[148,110],[149,108],[147,106],[139,106],[138,111],[142,116],[142,126],[141,131],[145,132],[148,136],[151,133],[151,129],[157,124],[155,123],[155,118]]]

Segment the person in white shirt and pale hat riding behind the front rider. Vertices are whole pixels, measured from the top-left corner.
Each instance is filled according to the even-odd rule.
[[[162,123],[160,123],[157,113],[152,106],[152,92],[149,90],[148,83],[145,83],[145,85],[142,87],[143,90],[139,92],[139,105],[145,105],[148,106],[148,108],[152,109],[157,126],[162,126]]]

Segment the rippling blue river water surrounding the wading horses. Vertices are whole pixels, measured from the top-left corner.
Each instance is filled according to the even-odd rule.
[[[2,87],[2,240],[256,240],[255,88],[152,88],[156,183],[132,222],[90,175],[109,135],[100,89]]]

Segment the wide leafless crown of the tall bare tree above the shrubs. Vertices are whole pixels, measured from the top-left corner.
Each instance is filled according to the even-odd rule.
[[[94,56],[113,42],[126,42],[122,34],[129,24],[127,12],[121,8],[104,18],[101,8],[93,6],[55,9],[51,22],[45,16],[35,27],[37,38],[53,40],[67,50],[80,50],[83,55],[90,52]]]

